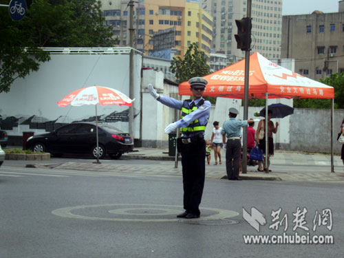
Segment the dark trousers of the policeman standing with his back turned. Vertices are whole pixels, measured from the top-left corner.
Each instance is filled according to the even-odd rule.
[[[228,180],[239,177],[241,141],[240,139],[227,140],[226,143],[226,171]]]

